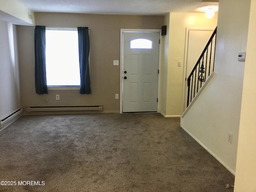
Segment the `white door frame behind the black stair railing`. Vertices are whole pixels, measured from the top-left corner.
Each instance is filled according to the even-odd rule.
[[[187,60],[188,60],[188,38],[189,38],[189,31],[214,31],[214,28],[186,28],[186,39],[185,39],[185,53],[184,53],[184,68],[183,68],[183,83],[182,83],[182,114],[186,110],[186,73],[187,73]]]

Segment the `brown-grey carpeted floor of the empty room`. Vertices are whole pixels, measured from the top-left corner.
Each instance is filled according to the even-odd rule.
[[[78,114],[22,116],[0,132],[0,181],[16,182],[0,192],[232,192],[234,176],[180,118]]]

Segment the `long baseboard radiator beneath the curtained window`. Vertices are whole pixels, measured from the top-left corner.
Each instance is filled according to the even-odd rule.
[[[30,114],[80,114],[102,112],[103,106],[28,106]]]

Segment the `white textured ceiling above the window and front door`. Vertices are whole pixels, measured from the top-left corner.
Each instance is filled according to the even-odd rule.
[[[199,12],[218,0],[18,0],[34,12],[88,14],[164,15],[168,12]],[[206,2],[205,2],[206,1]],[[209,2],[210,1],[210,2]]]

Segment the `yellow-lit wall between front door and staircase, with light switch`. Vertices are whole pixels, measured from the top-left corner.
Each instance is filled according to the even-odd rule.
[[[164,116],[180,116],[182,114],[182,85],[184,70],[184,54],[186,28],[215,29],[218,16],[211,19],[206,18],[204,13],[170,13],[165,16],[168,27],[168,37],[166,37],[165,52],[168,57],[163,58],[162,66],[167,76],[166,91],[162,90],[161,102]],[[168,50],[167,50],[168,49]],[[198,56],[199,58],[199,56]],[[182,66],[178,67],[178,61]],[[166,71],[165,71],[166,70]]]

